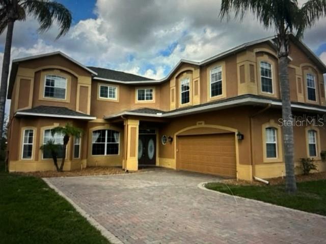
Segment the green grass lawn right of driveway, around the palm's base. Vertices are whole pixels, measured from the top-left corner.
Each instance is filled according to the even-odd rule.
[[[236,196],[256,199],[280,206],[299,209],[326,216],[326,180],[306,181],[297,183],[297,193],[289,195],[285,186],[234,186],[228,185]],[[231,194],[226,185],[208,183],[206,188]]]

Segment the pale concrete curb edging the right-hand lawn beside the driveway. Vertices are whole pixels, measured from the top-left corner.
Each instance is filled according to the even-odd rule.
[[[306,215],[310,215],[311,217],[322,218],[322,219],[326,220],[326,216],[314,214],[312,212],[306,212],[306,211],[302,211],[302,210],[298,210],[298,209],[293,209],[293,208],[289,208],[289,207],[275,205],[275,204],[268,203],[268,202],[263,202],[263,201],[259,201],[259,200],[255,200],[255,199],[246,198],[246,197],[240,197],[240,196],[230,195],[230,194],[227,194],[227,193],[224,193],[224,192],[219,192],[219,191],[214,191],[214,190],[207,189],[205,187],[205,185],[207,183],[211,183],[211,182],[214,183],[214,181],[201,182],[201,183],[199,183],[197,185],[197,187],[199,189],[201,189],[201,190],[205,190],[205,191],[209,191],[209,192],[214,192],[216,194],[220,194],[220,195],[224,195],[224,196],[228,196],[228,197],[233,197],[234,199],[245,200],[245,201],[256,202],[256,203],[258,202],[260,204],[266,205],[266,207],[267,206],[273,206],[273,207],[281,208],[283,210],[295,211],[295,212],[298,212],[300,214],[306,214]],[[216,181],[216,183],[218,183],[218,181]]]

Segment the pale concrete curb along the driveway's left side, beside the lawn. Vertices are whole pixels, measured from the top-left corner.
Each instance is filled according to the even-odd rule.
[[[62,191],[60,191],[57,187],[53,186],[51,182],[47,178],[42,178],[46,184],[55,190],[60,196],[66,199],[76,210],[82,215],[87,221],[94,226],[97,230],[101,232],[101,234],[112,244],[123,244],[121,240],[119,240],[113,233],[105,229],[100,223],[98,223],[93,217],[87,214],[82,208],[80,208],[76,203],[74,203],[69,197],[67,197]]]

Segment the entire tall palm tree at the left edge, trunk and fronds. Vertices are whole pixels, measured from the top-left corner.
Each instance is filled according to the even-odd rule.
[[[10,65],[10,52],[15,21],[24,21],[26,15],[33,15],[40,23],[39,31],[49,29],[53,21],[60,27],[57,39],[65,35],[71,25],[71,13],[62,4],[47,0],[0,0],[0,35],[7,28],[6,44],[2,66],[0,88],[0,135],[3,132],[4,114]]]

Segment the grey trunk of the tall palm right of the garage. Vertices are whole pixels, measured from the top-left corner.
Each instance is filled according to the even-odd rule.
[[[279,58],[279,77],[281,83],[282,96],[282,118],[283,121],[287,121],[292,119],[292,112],[288,75],[288,59],[285,55],[282,55]],[[282,129],[286,172],[286,191],[289,193],[294,193],[296,191],[296,182],[293,161],[293,127],[284,125]]]

